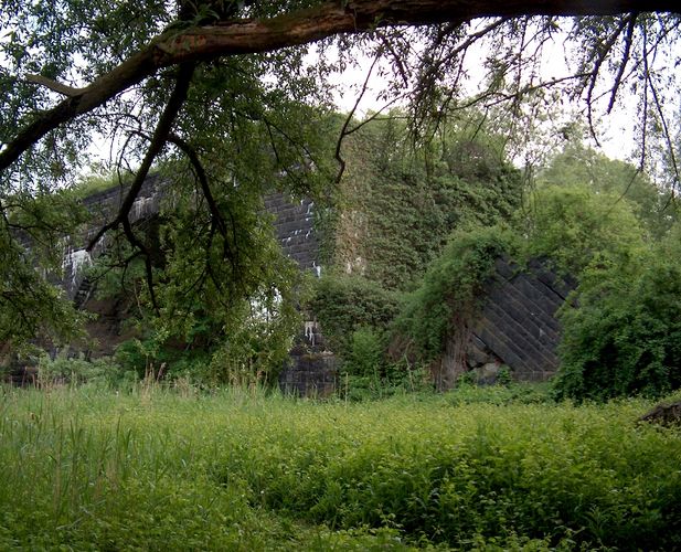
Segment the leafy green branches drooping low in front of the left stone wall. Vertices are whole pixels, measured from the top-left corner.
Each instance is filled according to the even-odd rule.
[[[298,330],[301,274],[279,247],[262,198],[244,187],[215,201],[230,214],[224,233],[205,234],[204,225],[212,224],[205,205],[181,199],[140,232],[153,247],[158,310],[143,261],[120,262],[135,257],[125,241],[115,242],[89,270],[98,298],[129,304],[126,323],[136,338],[119,357],[140,376],[164,363],[167,376],[192,372],[204,384],[273,381]]]

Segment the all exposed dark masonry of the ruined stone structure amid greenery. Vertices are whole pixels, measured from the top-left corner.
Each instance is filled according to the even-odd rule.
[[[78,237],[66,241],[62,286],[67,296],[81,308],[96,312],[97,320],[88,326],[92,337],[105,343],[98,354],[110,354],[117,343],[132,337],[121,330],[125,308],[116,301],[97,301],[83,268],[93,262],[85,251],[86,244],[99,224],[117,211],[123,193],[113,188],[84,200],[96,214],[93,227]],[[152,226],[158,220],[163,200],[163,183],[150,177],[131,210],[134,224]],[[274,215],[274,229],[284,252],[294,258],[300,269],[321,275],[319,241],[315,233],[315,204],[310,200],[289,201],[283,194],[265,198],[266,210]],[[102,240],[93,256],[102,254],[110,243]],[[445,344],[436,379],[441,374],[460,375],[471,371],[482,383],[496,381],[506,365],[517,380],[538,381],[553,375],[558,367],[556,347],[561,327],[555,318],[574,283],[564,282],[547,270],[542,263],[533,262],[521,270],[508,258],[496,262],[493,277],[486,286],[482,307],[478,314],[451,331]],[[336,389],[338,371],[336,358],[323,342],[313,315],[308,320],[291,350],[288,365],[281,372],[279,384],[286,393],[326,396]],[[129,333],[129,332],[128,332]],[[453,382],[438,382],[446,389]]]

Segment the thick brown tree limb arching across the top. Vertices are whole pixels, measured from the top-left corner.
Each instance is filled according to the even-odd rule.
[[[77,96],[39,114],[0,152],[0,171],[60,125],[92,112],[162,67],[225,55],[270,52],[339,33],[389,25],[460,22],[483,17],[681,13],[678,0],[349,0],[323,3],[267,20],[236,21],[187,31],[169,30],[102,75]]]

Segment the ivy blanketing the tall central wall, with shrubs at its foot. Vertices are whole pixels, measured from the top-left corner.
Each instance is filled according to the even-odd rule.
[[[506,161],[500,138],[482,130],[481,115],[455,118],[441,126],[436,139],[416,142],[402,119],[402,113],[393,110],[385,118],[353,123],[358,130],[343,141],[347,164],[340,197],[336,199],[337,216],[332,224],[328,219],[324,221],[323,230],[336,238],[329,263],[348,274],[377,283],[371,291],[374,298],[384,295],[381,287],[404,290],[418,286],[426,267],[441,253],[454,229],[464,233],[464,230],[510,220],[521,205],[520,172]],[[470,238],[467,244],[475,240]],[[459,251],[449,253],[450,257],[458,254]],[[461,267],[468,270],[466,262]],[[466,277],[475,278],[473,275],[461,276]],[[445,285],[439,291],[450,295]],[[472,286],[461,289],[462,294],[471,296],[476,291]],[[433,297],[435,294],[433,291]],[[407,359],[395,363],[394,359],[373,353],[369,354],[371,360],[359,360],[349,341],[366,335],[363,330],[354,335],[353,331],[368,327],[365,329],[370,329],[374,339],[386,341],[385,322],[394,318],[396,309],[390,317],[380,317],[382,321],[377,325],[372,315],[362,311],[366,308],[363,307],[366,299],[349,297],[345,300],[339,295],[339,290],[322,289],[311,310],[318,314],[324,335],[330,336],[332,350],[345,360],[353,393],[381,396],[382,392],[389,393],[396,388],[421,389],[422,362],[436,354],[449,323],[445,320],[451,314],[446,307],[448,297],[423,305],[425,315],[421,311],[405,315],[412,317],[416,326],[421,325],[417,329],[401,328],[409,339],[437,341],[417,342],[418,354],[413,365]],[[416,309],[418,300],[412,299],[407,309]],[[461,300],[459,306],[464,302]],[[331,314],[332,309],[342,309],[342,312]],[[433,322],[434,318],[438,322]],[[432,328],[426,328],[432,323],[441,326],[435,337]],[[385,351],[386,343],[382,348]],[[424,348],[430,349],[426,352]],[[411,353],[407,358],[415,360]],[[355,365],[372,368],[360,370],[363,374],[360,375],[355,373]]]

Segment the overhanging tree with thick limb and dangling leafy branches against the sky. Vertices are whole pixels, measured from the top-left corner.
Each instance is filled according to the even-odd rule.
[[[328,65],[306,65],[305,45],[313,42],[323,51],[340,36],[341,63],[351,44],[393,61],[394,84],[386,93],[407,95],[414,120],[425,123],[461,107],[462,61],[487,40],[493,53],[486,60],[488,86],[472,103],[510,99],[517,106],[517,98],[536,96],[549,84],[570,83],[584,96],[593,123],[598,95],[611,104],[629,82],[642,88],[642,131],[655,119],[671,144],[653,59],[679,34],[680,11],[672,0],[270,0],[241,12],[233,2],[192,4],[193,10],[187,2],[177,9],[161,0],[3,0],[0,10],[0,85],[9,91],[0,99],[3,243],[15,243],[18,232],[42,242],[46,232],[71,232],[71,220],[58,226],[21,222],[32,200],[20,199],[49,198],[85,162],[93,132],[113,135],[120,145],[117,170],[132,167],[134,176],[119,212],[89,248],[105,234],[120,233],[131,245],[123,261],[143,259],[148,299],[159,314],[163,306],[152,286],[151,255],[129,221],[152,167],[172,163],[168,172],[177,177],[171,180],[178,193],[202,198],[192,209],[205,213],[204,246],[215,254],[206,254],[206,269],[199,270],[208,279],[189,282],[185,293],[204,289],[208,280],[216,289],[253,293],[243,284],[254,282],[264,264],[246,263],[255,267],[248,276],[240,270],[243,264],[235,259],[246,253],[235,242],[241,232],[232,221],[252,219],[233,219],[234,211],[257,211],[255,198],[273,187],[310,192],[329,182],[329,150],[316,125],[328,107]],[[533,60],[563,24],[560,15],[578,17],[565,26],[584,47],[573,75],[542,83]],[[604,74],[611,78],[605,88]],[[349,131],[345,125],[342,136]],[[21,247],[6,253],[2,308],[19,316],[30,293],[12,300],[8,294],[15,291],[10,288],[17,267],[30,263]],[[216,264],[234,269],[220,270]],[[44,284],[39,278],[30,287]],[[0,337],[11,335],[11,325],[2,330]]]

